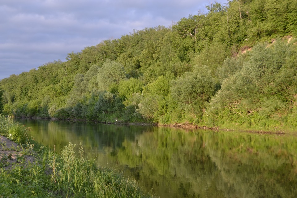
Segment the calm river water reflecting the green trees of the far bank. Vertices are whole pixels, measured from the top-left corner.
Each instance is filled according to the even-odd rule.
[[[82,142],[100,166],[122,171],[161,198],[297,196],[293,135],[18,121],[31,128],[29,136],[56,150]]]

